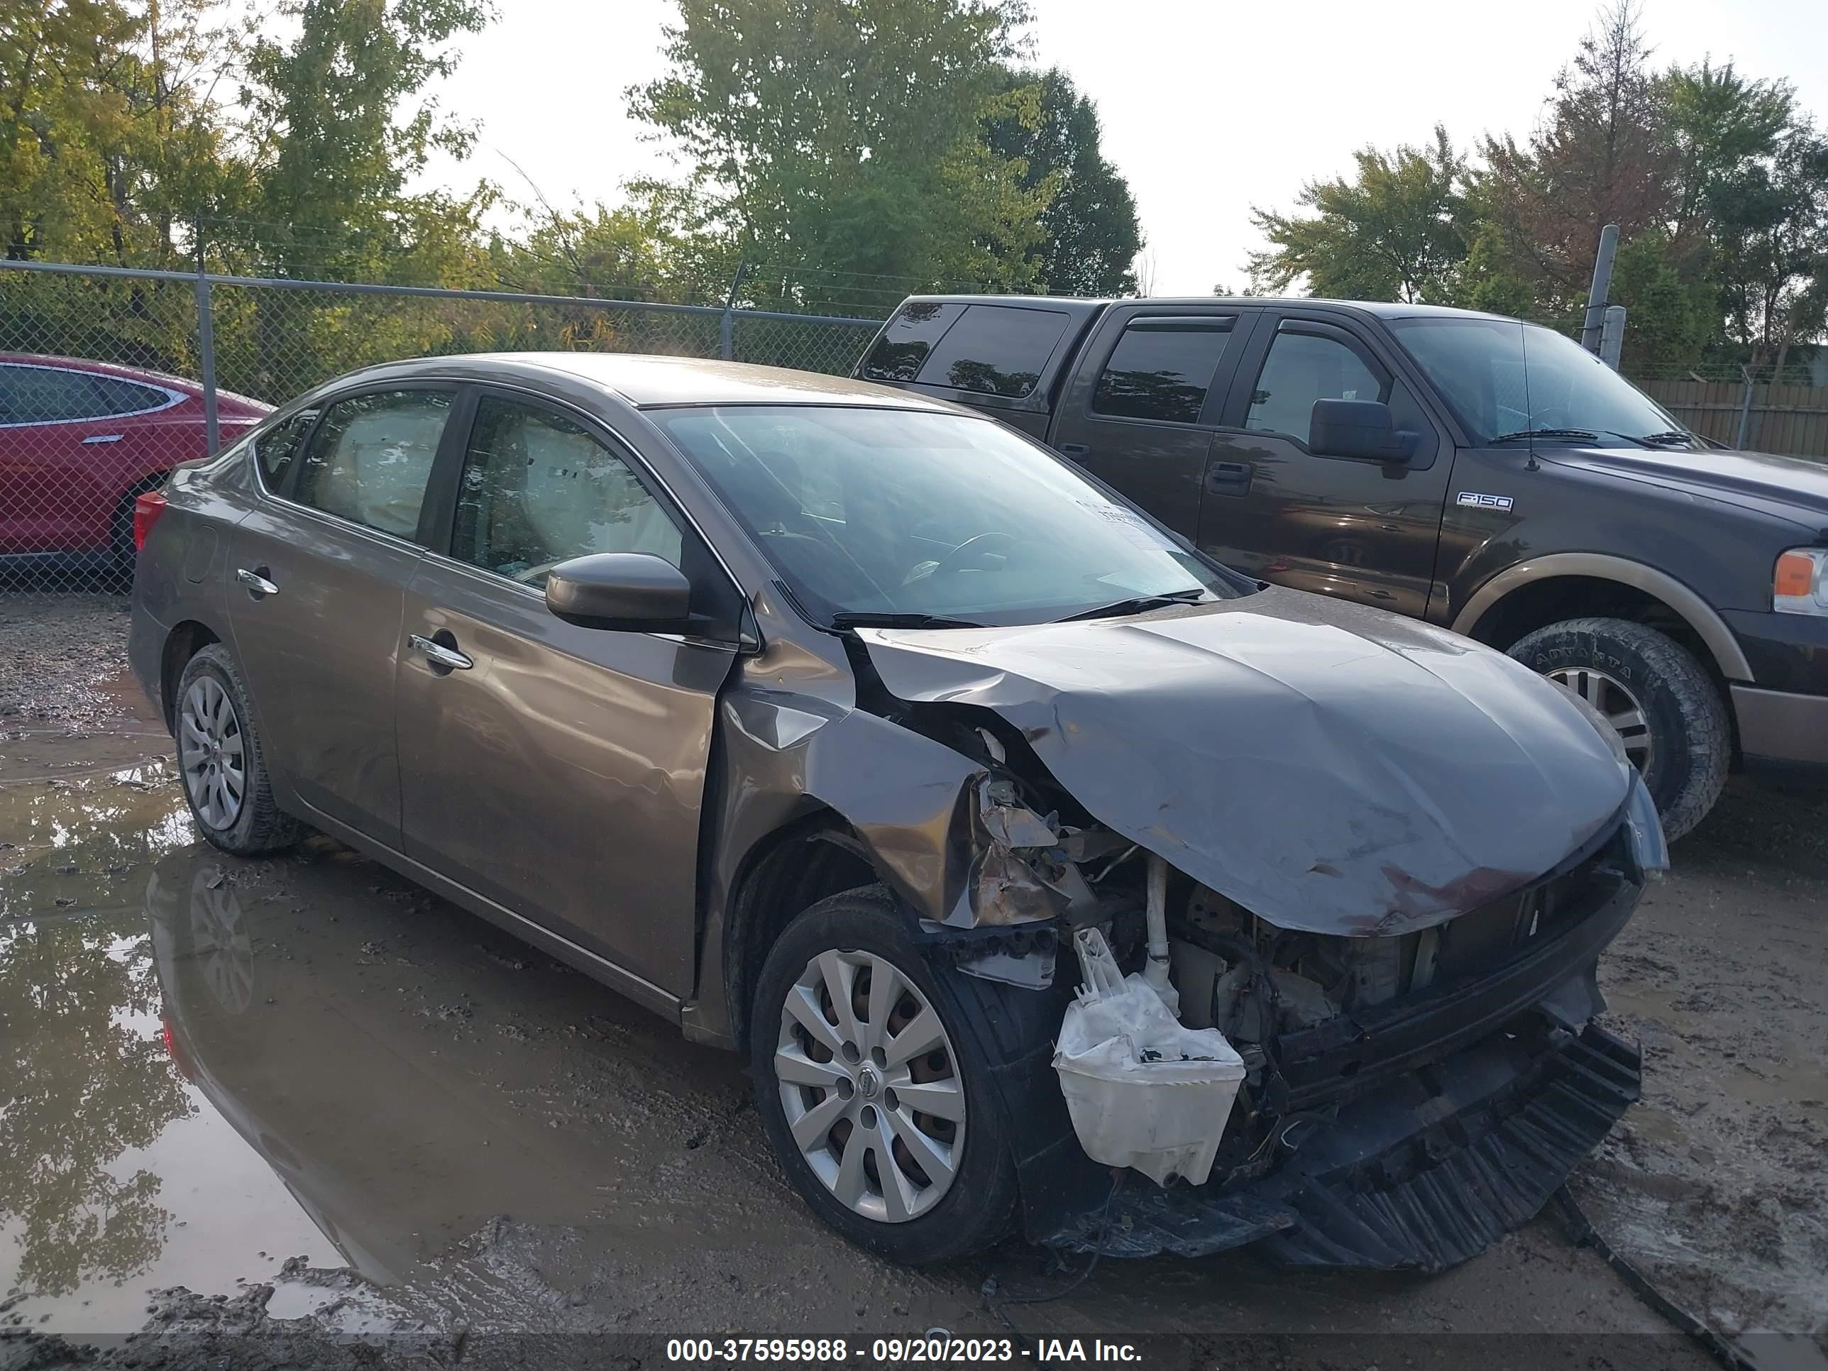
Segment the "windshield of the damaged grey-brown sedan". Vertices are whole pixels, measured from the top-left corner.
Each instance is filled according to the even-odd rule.
[[[649,419],[826,625],[1040,623],[1135,598],[1252,589],[987,419],[850,406]]]

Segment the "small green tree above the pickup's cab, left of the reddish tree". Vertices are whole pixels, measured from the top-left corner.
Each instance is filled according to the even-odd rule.
[[[1296,282],[1345,300],[1433,300],[1453,294],[1466,258],[1466,163],[1448,130],[1428,146],[1353,154],[1353,179],[1309,181],[1296,203],[1313,216],[1252,208],[1270,247],[1250,256],[1250,282],[1267,292]]]

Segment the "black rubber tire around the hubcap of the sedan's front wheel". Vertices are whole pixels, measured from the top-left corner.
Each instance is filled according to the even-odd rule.
[[[965,1097],[962,1161],[951,1186],[923,1214],[898,1223],[872,1219],[843,1203],[813,1172],[793,1141],[775,1075],[775,1051],[788,993],[823,952],[868,952],[885,958],[927,998],[952,1046]],[[1009,1153],[1004,1110],[996,1099],[974,1026],[951,985],[934,978],[892,896],[879,885],[821,899],[786,927],[768,951],[749,1018],[749,1062],[755,1102],[775,1157],[813,1212],[845,1238],[881,1258],[918,1267],[969,1256],[1011,1228],[1016,1170]]]

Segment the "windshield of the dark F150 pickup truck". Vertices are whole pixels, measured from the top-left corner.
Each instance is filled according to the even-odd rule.
[[[1583,430],[1585,446],[1693,441],[1667,409],[1572,338],[1495,318],[1397,318],[1397,338],[1475,444],[1528,430]]]

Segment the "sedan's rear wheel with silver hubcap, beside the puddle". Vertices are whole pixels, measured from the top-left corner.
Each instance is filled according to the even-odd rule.
[[[223,852],[289,848],[303,826],[272,802],[247,686],[221,643],[203,647],[177,678],[177,768],[190,815]]]

